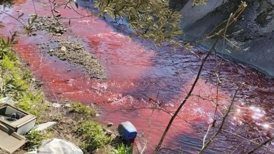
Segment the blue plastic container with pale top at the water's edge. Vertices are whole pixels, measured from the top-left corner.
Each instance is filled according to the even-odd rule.
[[[131,141],[136,138],[137,130],[129,121],[123,122],[118,126],[118,132],[126,141]]]

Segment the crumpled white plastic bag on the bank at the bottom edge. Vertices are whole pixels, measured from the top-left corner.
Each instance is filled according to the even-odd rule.
[[[66,140],[52,138],[45,140],[36,151],[25,154],[83,154],[82,150]]]

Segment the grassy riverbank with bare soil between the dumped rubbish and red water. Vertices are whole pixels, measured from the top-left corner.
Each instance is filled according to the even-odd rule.
[[[79,146],[84,153],[105,154],[111,152],[119,143],[119,137],[113,133],[115,128],[100,124],[96,119],[99,113],[92,103],[85,106],[66,99],[49,101],[37,81],[27,68],[24,59],[17,57],[8,48],[3,59],[0,59],[2,90],[0,97],[11,97],[15,106],[37,117],[36,124],[56,122],[56,125],[46,131],[33,131],[24,136],[27,138],[21,149],[15,154],[23,154],[38,148],[42,141],[50,138],[68,140]],[[5,153],[0,150],[0,153]]]

